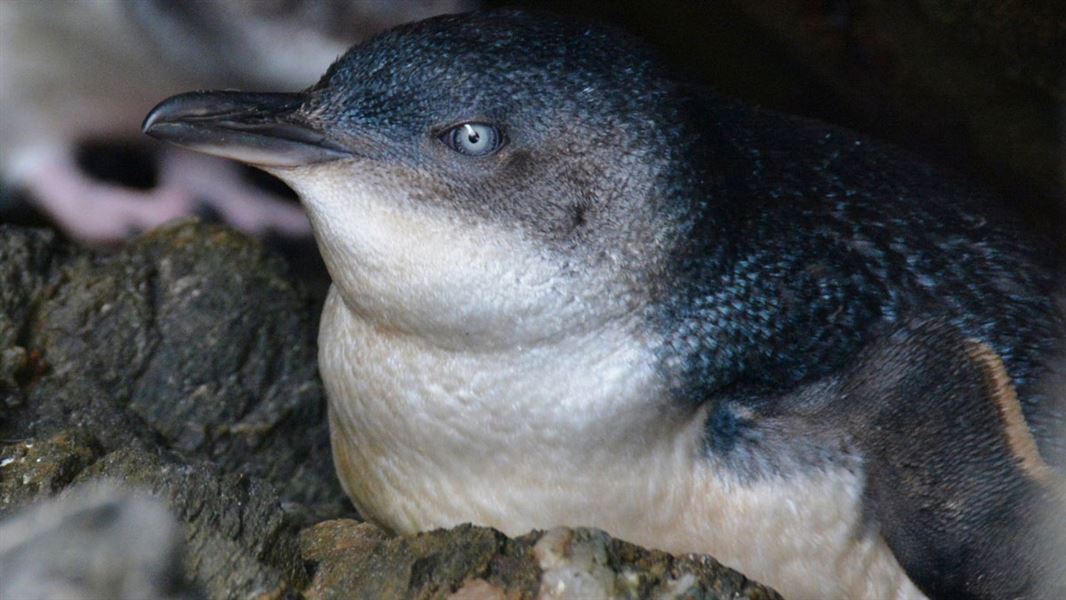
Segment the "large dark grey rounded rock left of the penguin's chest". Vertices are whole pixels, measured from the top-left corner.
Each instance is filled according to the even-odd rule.
[[[0,226],[0,437],[77,426],[107,451],[160,445],[286,501],[346,505],[318,307],[258,242],[184,222],[109,256]]]

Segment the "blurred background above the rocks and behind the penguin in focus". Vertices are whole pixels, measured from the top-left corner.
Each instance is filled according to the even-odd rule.
[[[1066,249],[1061,0],[0,0],[0,222],[108,247],[198,214],[312,272],[280,182],[162,149],[140,119],[185,90],[303,87],[375,31],[479,5],[616,23],[722,94],[962,172]]]

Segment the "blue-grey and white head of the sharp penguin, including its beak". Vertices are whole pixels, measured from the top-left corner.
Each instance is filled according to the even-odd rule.
[[[679,221],[674,95],[625,34],[489,12],[386,32],[303,93],[171,98],[144,128],[288,182],[352,310],[529,343],[646,302]]]

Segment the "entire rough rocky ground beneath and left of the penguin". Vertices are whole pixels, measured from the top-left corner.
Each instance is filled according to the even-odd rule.
[[[329,455],[319,307],[285,269],[195,222],[112,255],[0,226],[0,581],[20,586],[0,596],[776,598],[596,531],[398,538],[337,519],[355,515]],[[139,491],[79,491],[101,481]],[[56,494],[29,513],[52,517],[16,515]]]

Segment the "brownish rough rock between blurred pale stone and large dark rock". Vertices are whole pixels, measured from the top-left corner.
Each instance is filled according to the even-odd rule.
[[[307,583],[296,541],[300,521],[270,483],[223,474],[204,461],[166,460],[150,450],[101,449],[96,438],[75,429],[0,448],[0,515],[69,486],[122,482],[162,503],[174,515],[167,522],[179,519],[190,549],[182,572],[210,597],[280,597]],[[101,538],[101,547],[111,541]]]

